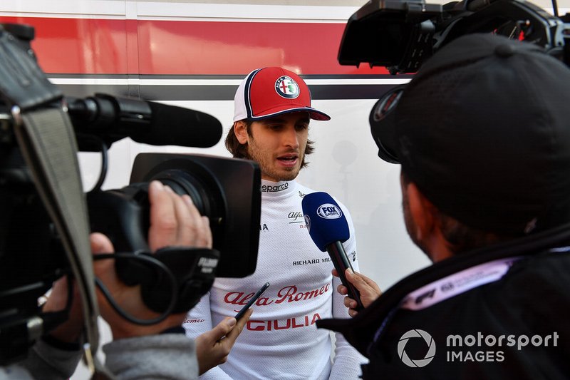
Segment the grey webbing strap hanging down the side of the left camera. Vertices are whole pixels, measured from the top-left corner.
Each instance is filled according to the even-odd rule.
[[[56,226],[75,275],[83,315],[86,344],[83,349],[90,370],[98,348],[98,306],[95,297],[87,206],[81,184],[73,127],[61,108],[40,108],[20,113],[12,108],[14,132],[36,190]]]

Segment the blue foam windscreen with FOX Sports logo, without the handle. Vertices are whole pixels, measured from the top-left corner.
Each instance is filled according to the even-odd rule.
[[[333,242],[346,242],[351,232],[341,207],[326,192],[312,192],[301,202],[311,239],[322,252]]]

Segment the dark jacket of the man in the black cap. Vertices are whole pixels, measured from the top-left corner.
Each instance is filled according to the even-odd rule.
[[[570,227],[457,255],[353,319],[363,379],[570,379]]]

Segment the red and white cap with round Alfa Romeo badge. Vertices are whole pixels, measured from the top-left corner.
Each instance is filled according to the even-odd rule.
[[[234,121],[261,120],[297,111],[308,112],[314,120],[331,120],[311,107],[311,91],[305,81],[281,67],[258,68],[249,73],[237,88],[234,107]]]

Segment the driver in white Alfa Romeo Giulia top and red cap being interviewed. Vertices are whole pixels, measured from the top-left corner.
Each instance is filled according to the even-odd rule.
[[[296,183],[314,147],[309,121],[329,120],[311,108],[311,93],[295,73],[279,67],[252,71],[234,99],[234,125],[226,147],[235,158],[261,168],[261,223],[257,269],[243,279],[217,278],[209,294],[188,314],[189,337],[234,316],[265,282],[270,286],[253,305],[254,314],[237,339],[227,362],[201,379],[358,379],[366,359],[341,334],[333,345],[318,319],[348,318],[343,296],[336,292],[333,263],[318,250],[306,230],[301,200],[314,192]],[[358,270],[351,216],[344,243]],[[335,346],[334,360],[331,348]]]

